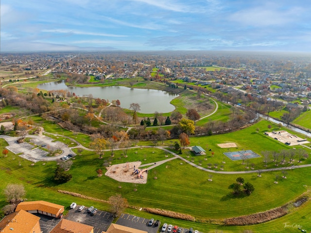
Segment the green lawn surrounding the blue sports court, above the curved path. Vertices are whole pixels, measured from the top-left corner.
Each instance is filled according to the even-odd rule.
[[[203,167],[207,168],[207,164],[211,163],[211,170],[220,171],[221,166],[223,165],[224,171],[244,171],[244,170],[251,170],[251,167],[253,167],[255,170],[257,169],[266,169],[266,168],[274,168],[275,163],[271,160],[268,162],[268,166],[264,167],[263,162],[263,156],[262,151],[281,151],[283,149],[291,149],[293,147],[285,145],[284,143],[277,142],[276,140],[264,135],[264,132],[267,131],[265,128],[267,128],[267,125],[271,125],[271,122],[268,121],[260,121],[255,125],[252,125],[248,128],[238,130],[232,133],[227,134],[220,134],[220,135],[212,135],[212,136],[204,136],[204,137],[190,137],[190,146],[199,145],[203,147],[207,151],[207,155],[202,156],[194,156],[192,152],[189,150],[185,150],[183,154],[181,155],[183,158],[193,161],[195,164],[201,163]],[[272,125],[274,130],[279,130],[276,125]],[[256,132],[256,128],[259,128],[259,132]],[[262,130],[263,129],[263,130]],[[281,130],[287,130],[288,132],[291,132],[288,129],[281,128]],[[293,132],[291,132],[293,133]],[[300,136],[304,138],[303,136],[294,133],[294,135]],[[237,147],[233,148],[221,148],[217,144],[220,143],[236,143]],[[303,148],[308,153],[308,149],[302,146],[295,146],[296,149]],[[209,151],[209,149],[211,149]],[[252,150],[255,153],[259,154],[260,158],[254,158],[250,160],[245,160],[242,164],[242,161],[231,161],[229,158],[227,158],[223,153],[230,152],[230,151],[240,151],[240,150]],[[212,155],[212,152],[214,152],[214,155]],[[225,163],[223,163],[225,161]],[[288,161],[288,159],[287,159]],[[248,162],[248,169],[245,169],[246,164]],[[217,168],[214,168],[214,164],[217,163]],[[308,158],[307,160],[302,160],[301,163],[298,163],[298,160],[296,158],[294,165],[302,165],[311,163],[311,158]],[[291,164],[290,164],[291,165]],[[289,166],[288,163],[279,166]]]

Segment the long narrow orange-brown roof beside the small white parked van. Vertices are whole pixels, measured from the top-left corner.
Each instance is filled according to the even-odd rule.
[[[51,202],[47,202],[44,200],[38,200],[38,201],[25,201],[20,202],[17,205],[16,211],[24,210],[24,211],[30,211],[30,210],[41,210],[47,213],[51,213],[53,215],[58,215],[60,213],[64,212],[64,206],[57,205]]]

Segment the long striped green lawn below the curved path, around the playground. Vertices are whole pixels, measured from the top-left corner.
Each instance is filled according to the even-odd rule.
[[[135,151],[138,153],[136,154]],[[152,151],[155,153],[151,153]],[[115,152],[112,164],[137,161],[138,159],[143,163],[166,159],[163,151],[154,148],[130,149],[127,158],[119,157],[121,152]],[[111,195],[120,193],[128,199],[130,205],[161,208],[212,219],[246,215],[282,205],[303,193],[306,190],[303,184],[309,185],[308,180],[311,180],[310,168],[289,171],[288,179],[279,180],[278,185],[273,183],[275,172],[264,173],[261,178],[257,178],[256,173],[245,174],[242,177],[245,181],[251,182],[256,191],[249,197],[236,198],[231,195],[231,190],[228,187],[241,175],[213,174],[213,181],[208,182],[207,172],[198,170],[189,164],[181,165],[181,161],[176,159],[150,170],[148,183],[138,184],[137,192],[134,192],[132,183],[120,184],[120,182],[105,176],[97,177],[96,170],[99,168],[104,170],[103,162],[111,158],[109,152],[106,152],[103,160],[99,160],[94,152],[89,151],[84,151],[82,156],[75,158],[69,170],[73,178],[65,184],[55,184],[52,181],[53,170],[56,167],[55,162],[48,162],[45,165],[42,165],[42,162],[37,162],[31,166],[30,162],[22,161],[21,158],[13,162],[10,157],[3,158],[0,178],[3,179],[10,175],[12,177],[10,182],[23,183],[28,191],[27,198],[29,193],[31,199],[34,200],[42,199],[42,192],[38,192],[36,189],[43,187],[47,189],[47,193],[49,193],[48,191],[55,193],[60,189],[105,200]],[[146,161],[144,161],[145,159]],[[21,161],[21,166],[18,166],[17,160]],[[304,174],[303,178],[301,171]],[[153,179],[155,176],[157,179]],[[0,187],[3,189],[8,182],[7,180],[2,182]],[[34,192],[35,190],[36,192]],[[151,190],[154,192],[150,192]],[[72,200],[71,197],[68,198]]]

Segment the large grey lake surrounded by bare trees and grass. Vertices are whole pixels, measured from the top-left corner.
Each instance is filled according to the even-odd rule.
[[[78,96],[92,95],[93,98],[120,100],[121,108],[129,108],[130,104],[138,103],[141,113],[171,112],[175,107],[170,102],[178,95],[163,90],[134,89],[122,86],[112,87],[68,87],[64,81],[44,83],[37,86],[43,90],[67,90]]]

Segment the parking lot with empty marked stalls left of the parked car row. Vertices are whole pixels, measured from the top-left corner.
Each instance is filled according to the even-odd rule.
[[[148,218],[138,217],[135,215],[121,214],[116,223],[122,226],[138,229],[141,231],[146,231],[148,233],[157,233],[160,226],[149,227],[148,221],[149,221]]]

